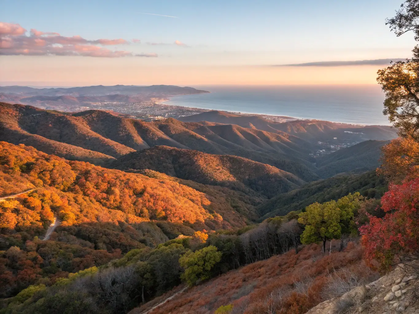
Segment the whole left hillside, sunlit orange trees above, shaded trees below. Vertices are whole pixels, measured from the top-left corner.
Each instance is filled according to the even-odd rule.
[[[203,185],[207,196],[175,180],[67,161],[22,144],[0,142],[0,170],[0,197],[34,189],[0,201],[2,296],[179,234],[238,228],[246,214],[254,218],[251,200],[231,190]],[[39,241],[54,218],[60,226]]]

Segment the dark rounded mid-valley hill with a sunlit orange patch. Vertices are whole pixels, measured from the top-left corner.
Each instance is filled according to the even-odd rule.
[[[303,183],[289,172],[246,158],[167,146],[127,154],[111,162],[110,167],[121,170],[150,169],[177,178],[227,186],[247,193],[250,188],[266,197],[292,190]]]

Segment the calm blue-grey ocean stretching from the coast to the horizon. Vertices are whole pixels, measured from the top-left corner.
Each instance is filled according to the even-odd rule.
[[[389,125],[379,85],[194,86],[211,93],[179,95],[167,105],[290,116],[363,125]]]

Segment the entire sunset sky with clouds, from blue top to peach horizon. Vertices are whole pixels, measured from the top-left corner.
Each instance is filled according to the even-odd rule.
[[[400,0],[0,2],[0,85],[375,84],[389,60],[345,62],[415,45]]]

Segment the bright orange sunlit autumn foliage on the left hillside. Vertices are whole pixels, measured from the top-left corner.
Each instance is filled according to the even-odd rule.
[[[9,229],[41,226],[54,214],[63,225],[150,219],[194,224],[213,219],[203,207],[210,204],[204,193],[174,181],[67,161],[5,142],[0,144],[0,167],[1,196],[36,188],[0,204],[1,221],[8,221]]]

